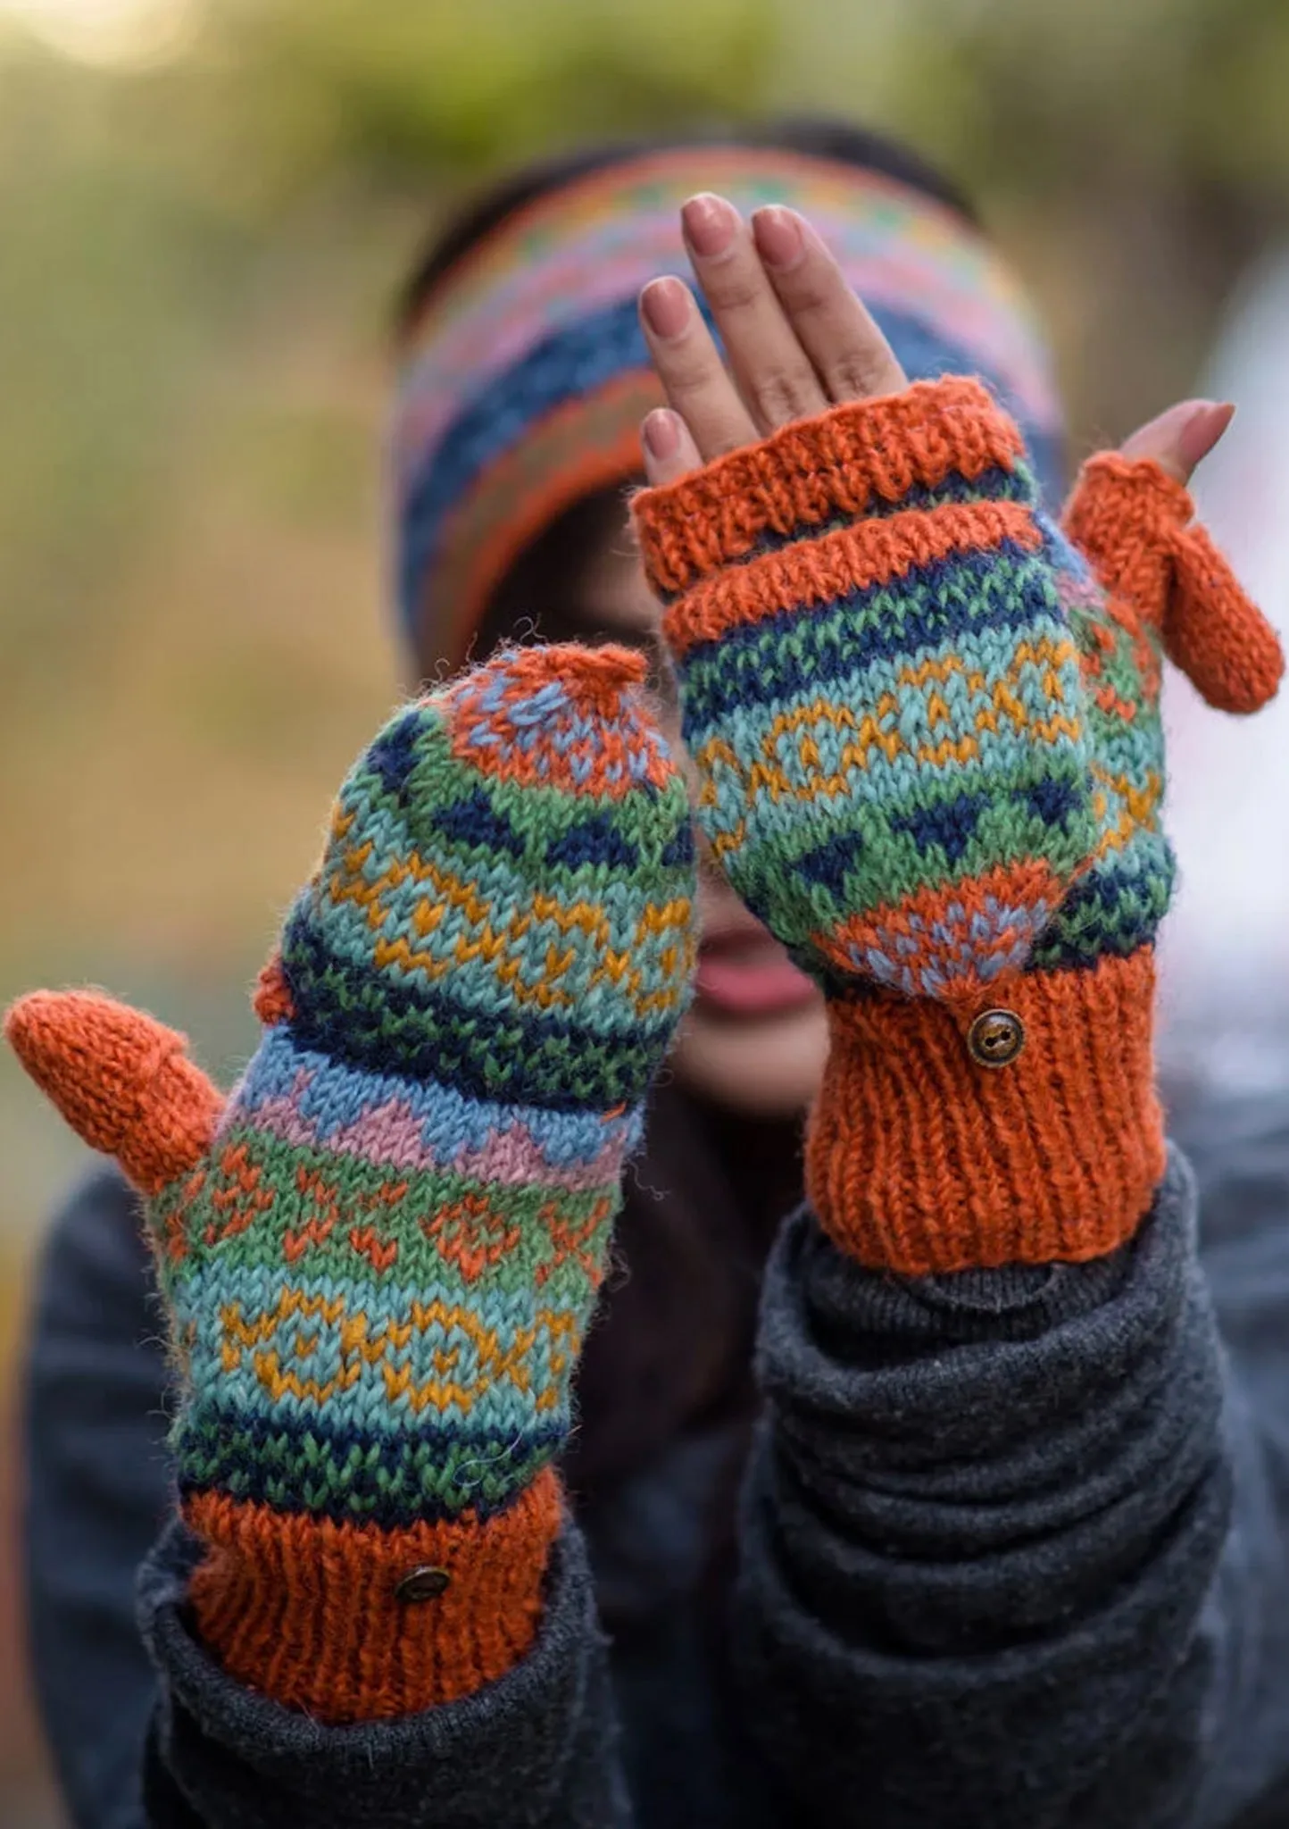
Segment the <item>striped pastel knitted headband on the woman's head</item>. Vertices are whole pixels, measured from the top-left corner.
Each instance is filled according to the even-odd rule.
[[[492,593],[565,508],[640,472],[660,404],[636,294],[687,273],[680,205],[786,203],[819,229],[911,377],[982,375],[1060,472],[1048,351],[1017,280],[956,212],[861,166],[764,146],[642,154],[536,198],[431,291],[393,415],[397,587],[417,653],[457,666]]]

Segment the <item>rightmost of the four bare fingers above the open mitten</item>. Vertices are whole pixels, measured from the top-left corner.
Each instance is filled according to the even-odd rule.
[[[804,218],[772,205],[751,218],[757,252],[830,401],[898,393],[907,377]]]

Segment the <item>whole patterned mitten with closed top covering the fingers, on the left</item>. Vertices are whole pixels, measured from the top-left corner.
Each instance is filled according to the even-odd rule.
[[[689,808],[642,675],[506,651],[386,726],[227,1101],[99,993],[5,1024],[148,1200],[203,1639],[325,1721],[470,1694],[539,1620],[550,1461],[693,968]],[[400,1599],[419,1566],[437,1599]]]

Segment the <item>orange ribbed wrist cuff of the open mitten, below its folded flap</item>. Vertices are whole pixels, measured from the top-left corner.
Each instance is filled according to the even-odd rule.
[[[806,1193],[861,1264],[921,1277],[1082,1262],[1150,1209],[1165,1167],[1152,951],[1009,979],[995,1004],[1026,1028],[996,1068],[942,1004],[828,1006]]]

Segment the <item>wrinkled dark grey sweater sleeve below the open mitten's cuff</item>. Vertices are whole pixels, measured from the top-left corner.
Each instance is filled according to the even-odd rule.
[[[1289,1445],[1177,1152],[1084,1264],[896,1278],[801,1213],[761,1377],[739,1668],[784,1820],[1216,1829],[1284,1778]]]

